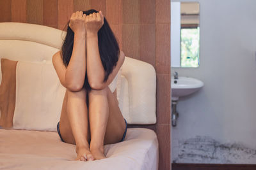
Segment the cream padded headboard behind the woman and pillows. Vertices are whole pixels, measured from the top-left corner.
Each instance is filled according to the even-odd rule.
[[[0,23],[0,59],[52,63],[66,32],[52,27],[21,22]],[[126,103],[129,124],[156,124],[156,71],[147,62],[125,57],[118,101]],[[0,82],[1,82],[0,64]],[[127,93],[122,90],[128,89]],[[125,99],[126,98],[126,99]]]

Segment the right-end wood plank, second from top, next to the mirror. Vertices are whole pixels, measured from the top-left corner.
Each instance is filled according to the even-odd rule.
[[[156,71],[170,74],[170,24],[156,24]]]

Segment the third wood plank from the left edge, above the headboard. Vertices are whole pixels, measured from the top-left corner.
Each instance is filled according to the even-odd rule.
[[[27,0],[27,22],[43,24],[43,0]]]

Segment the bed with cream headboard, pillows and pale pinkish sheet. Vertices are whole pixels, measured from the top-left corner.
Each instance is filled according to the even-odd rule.
[[[104,146],[107,159],[90,162],[74,160],[76,146],[61,142],[56,124],[65,88],[51,57],[63,38],[65,31],[44,25],[0,23],[0,59],[15,68],[13,85],[4,80],[9,73],[3,70],[10,67],[0,65],[0,169],[157,169],[158,141],[150,129],[128,128],[123,142]],[[156,124],[154,67],[125,56],[117,81],[128,124]]]

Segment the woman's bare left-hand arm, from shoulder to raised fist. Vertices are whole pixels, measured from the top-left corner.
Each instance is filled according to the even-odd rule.
[[[73,13],[70,18],[70,28],[74,31],[74,45],[67,68],[64,66],[60,52],[52,56],[52,63],[60,78],[61,84],[71,91],[78,91],[83,87],[86,71],[85,58],[85,15],[83,11]]]

